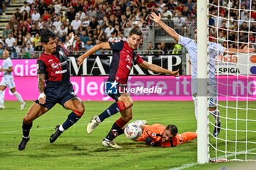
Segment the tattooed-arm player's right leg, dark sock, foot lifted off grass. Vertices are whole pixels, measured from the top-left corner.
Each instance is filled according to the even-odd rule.
[[[64,107],[65,109],[72,110],[72,112],[68,115],[67,120],[62,125],[56,125],[55,133],[50,136],[50,143],[55,142],[62,132],[74,125],[84,113],[83,102],[77,97],[66,101]]]

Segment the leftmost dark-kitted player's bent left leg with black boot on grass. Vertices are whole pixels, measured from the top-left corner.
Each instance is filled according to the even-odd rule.
[[[23,117],[23,137],[20,141],[20,144],[18,145],[18,150],[24,150],[27,142],[29,142],[29,131],[33,125],[33,120],[35,120],[40,115],[43,115],[47,111],[48,109],[46,107],[42,107],[40,104],[34,103],[31,105],[27,114],[25,117]]]

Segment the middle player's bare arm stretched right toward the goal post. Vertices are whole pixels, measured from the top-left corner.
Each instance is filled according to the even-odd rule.
[[[178,70],[170,71],[170,70],[162,68],[161,66],[157,66],[156,64],[151,64],[151,63],[148,63],[146,61],[143,61],[143,63],[138,63],[138,65],[140,67],[142,67],[143,69],[150,70],[151,72],[162,73],[162,74],[170,74],[170,75],[173,75],[173,76],[176,76],[176,77],[179,76]]]

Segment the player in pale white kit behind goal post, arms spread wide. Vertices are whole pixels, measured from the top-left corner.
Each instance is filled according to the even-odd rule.
[[[159,26],[164,28],[164,30],[178,41],[178,44],[183,45],[188,53],[191,61],[192,69],[192,82],[191,82],[191,91],[192,98],[195,105],[195,117],[197,119],[197,42],[194,39],[189,39],[187,37],[181,36],[176,33],[173,28],[165,25],[161,20],[161,15],[157,15],[155,12],[151,12],[151,20],[154,20],[155,23],[158,23]],[[195,31],[195,39],[197,39],[197,31]],[[215,80],[215,58],[218,55],[234,54],[234,53],[255,53],[254,48],[249,48],[245,46],[243,49],[228,48],[226,49],[222,45],[219,45],[214,42],[208,43],[208,52],[209,52],[209,79],[208,79],[208,90],[209,90],[209,111],[211,115],[214,116],[215,126],[214,126],[214,136],[218,136],[220,132],[220,119],[219,119],[219,110],[217,109],[217,82]],[[200,80],[203,81],[203,80]]]

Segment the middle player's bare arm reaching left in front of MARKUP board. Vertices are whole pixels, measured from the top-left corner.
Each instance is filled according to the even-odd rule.
[[[83,53],[83,55],[80,55],[78,57],[78,65],[80,66],[83,63],[83,60],[85,58],[88,58],[89,55],[92,55],[93,53],[97,52],[97,50],[110,50],[110,45],[108,42],[102,42],[99,45],[94,45],[94,47],[91,47],[90,50],[86,51],[86,53]]]

